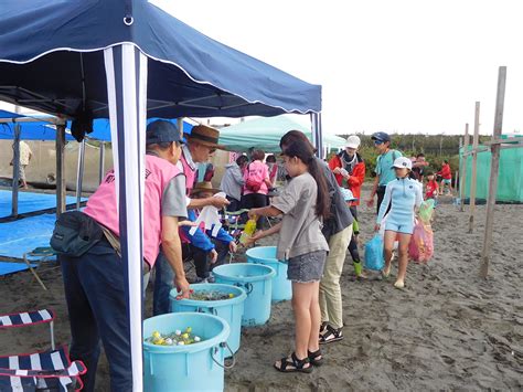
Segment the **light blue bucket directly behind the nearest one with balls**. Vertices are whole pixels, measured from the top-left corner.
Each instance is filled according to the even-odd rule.
[[[199,292],[214,292],[220,294],[232,294],[234,295],[231,299],[222,300],[196,300],[196,299],[177,299],[179,293],[177,289],[172,289],[170,294],[171,299],[171,311],[198,311],[211,314],[223,318],[227,321],[231,328],[231,335],[227,339],[227,345],[231,350],[235,353],[239,349],[239,340],[242,336],[242,316],[244,314],[244,303],[247,299],[247,294],[244,289],[231,285],[218,285],[218,284],[201,284],[192,285],[191,288],[194,293]]]

